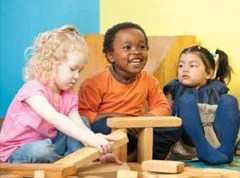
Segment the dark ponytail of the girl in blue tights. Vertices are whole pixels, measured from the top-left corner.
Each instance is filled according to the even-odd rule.
[[[223,82],[224,84],[228,84],[231,81],[232,72],[232,68],[228,63],[228,55],[219,49],[217,49],[215,53],[218,54],[215,79]]]

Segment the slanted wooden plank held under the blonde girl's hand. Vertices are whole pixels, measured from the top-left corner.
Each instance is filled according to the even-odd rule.
[[[111,135],[116,135],[118,137],[118,141],[110,142],[112,149],[119,148],[120,146],[125,145],[128,142],[128,138],[126,133],[122,131],[115,131]],[[99,158],[101,154],[98,149],[92,147],[84,147],[58,161],[56,161],[55,165],[74,165],[76,168],[79,168],[83,165],[87,165],[91,161]]]

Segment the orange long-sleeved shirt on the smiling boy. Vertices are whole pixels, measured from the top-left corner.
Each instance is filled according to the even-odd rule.
[[[168,101],[153,75],[142,71],[133,83],[125,85],[119,83],[106,67],[83,82],[78,109],[93,123],[99,113],[144,115],[146,103],[147,112],[152,115],[171,115]]]

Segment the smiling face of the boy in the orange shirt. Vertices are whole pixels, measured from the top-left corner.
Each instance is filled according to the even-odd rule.
[[[119,77],[124,80],[135,78],[147,62],[144,34],[135,28],[119,30],[113,41],[113,51],[107,57]]]

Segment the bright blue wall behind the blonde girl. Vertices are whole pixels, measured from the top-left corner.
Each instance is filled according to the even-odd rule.
[[[23,84],[24,50],[42,31],[73,24],[99,33],[99,0],[0,0],[0,116]]]

